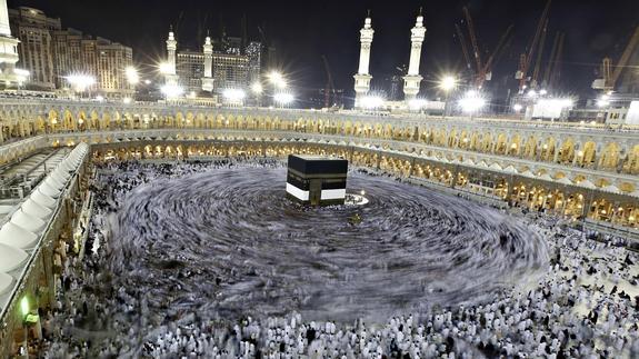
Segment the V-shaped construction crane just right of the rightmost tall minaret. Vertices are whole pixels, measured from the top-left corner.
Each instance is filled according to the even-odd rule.
[[[506,29],[506,32],[501,34],[499,41],[492,53],[489,54],[488,60],[486,62],[481,59],[481,50],[479,49],[479,43],[477,40],[477,33],[475,31],[475,22],[472,21],[472,17],[470,16],[470,10],[467,7],[463,7],[463,17],[466,19],[466,24],[468,27],[468,33],[470,38],[470,44],[472,46],[472,54],[475,59],[475,86],[477,88],[481,88],[485,81],[490,81],[492,78],[492,66],[499,60],[503,50],[507,48],[508,43],[510,43],[511,33],[512,33],[512,24]],[[457,34],[459,37],[459,41],[461,42],[461,50],[463,52],[463,57],[466,58],[466,63],[469,69],[472,69],[471,60],[469,57],[468,47],[466,44],[466,39],[463,38],[463,33],[459,26],[455,26],[457,30]],[[488,52],[488,51],[487,51]]]

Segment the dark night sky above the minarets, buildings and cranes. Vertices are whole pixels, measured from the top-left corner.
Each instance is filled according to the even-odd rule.
[[[446,71],[465,67],[455,23],[468,6],[482,48],[492,49],[501,32],[515,26],[515,37],[490,86],[516,88],[519,53],[530,43],[546,0],[9,0],[9,7],[30,6],[60,17],[63,27],[101,36],[133,48],[139,63],[156,62],[163,53],[169,24],[177,27],[179,48],[199,48],[198,29],[240,36],[240,20],[248,18],[249,33],[259,40],[264,30],[278,51],[280,66],[299,88],[321,88],[326,74],[321,54],[330,63],[337,88],[352,89],[359,57],[359,29],[367,9],[376,30],[372,44],[373,87],[386,89],[395,68],[408,63],[410,28],[420,7],[428,29],[423,44],[422,90],[435,87]],[[639,23],[639,0],[553,0],[546,54],[555,33],[563,31],[566,49],[561,91],[586,94],[606,54],[615,61]],[[485,56],[486,58],[486,56]],[[542,68],[543,69],[543,68]],[[497,96],[500,96],[500,94]]]

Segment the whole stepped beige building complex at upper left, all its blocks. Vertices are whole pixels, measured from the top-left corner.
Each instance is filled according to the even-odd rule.
[[[1,1],[1,0],[0,0]],[[67,77],[87,74],[96,79],[88,90],[106,97],[132,92],[126,69],[133,64],[133,50],[76,29],[62,29],[60,19],[32,8],[9,12],[11,27],[21,39],[20,67],[30,72],[30,86],[41,89],[69,88]]]

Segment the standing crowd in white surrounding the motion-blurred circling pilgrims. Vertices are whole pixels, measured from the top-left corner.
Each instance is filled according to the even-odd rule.
[[[241,163],[240,163],[241,162]],[[638,358],[638,256],[623,239],[583,233],[558,219],[523,220],[553,253],[535,286],[469,307],[402,313],[382,323],[280,318],[209,319],[174,311],[151,325],[144,288],[114,288],[106,218],[136,187],[160,177],[238,166],[279,167],[274,160],[98,164],[110,181],[91,185],[93,216],[86,255],[64,253],[56,308],[43,316],[49,358]],[[390,174],[381,174],[390,176]],[[98,176],[99,178],[99,176]],[[399,180],[399,179],[398,179]]]

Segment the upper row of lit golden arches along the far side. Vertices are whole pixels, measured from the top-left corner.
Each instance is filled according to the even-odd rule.
[[[593,170],[639,174],[639,143],[621,136],[597,133],[545,133],[505,128],[465,128],[440,122],[398,123],[363,122],[337,119],[280,119],[278,116],[234,116],[222,113],[177,112],[176,114],[120,113],[50,110],[33,120],[6,124],[2,138],[24,138],[33,134],[68,131],[108,131],[130,129],[234,129],[297,131],[357,138],[391,139],[446,147],[478,153],[575,166]]]

